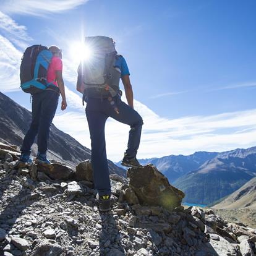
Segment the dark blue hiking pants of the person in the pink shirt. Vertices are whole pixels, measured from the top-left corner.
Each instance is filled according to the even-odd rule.
[[[25,135],[21,151],[30,154],[36,134],[38,134],[38,151],[45,154],[49,138],[49,128],[55,115],[59,101],[59,93],[45,90],[32,96],[32,122]]]

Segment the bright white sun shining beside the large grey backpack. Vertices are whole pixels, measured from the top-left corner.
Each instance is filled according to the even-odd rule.
[[[70,56],[74,62],[90,61],[93,57],[93,51],[90,46],[85,45],[82,41],[77,41],[70,46]]]

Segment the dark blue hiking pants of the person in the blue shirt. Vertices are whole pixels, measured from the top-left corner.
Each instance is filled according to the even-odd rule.
[[[108,117],[130,126],[127,155],[135,157],[140,145],[142,117],[119,96],[113,99],[87,99],[85,109],[92,141],[92,166],[95,189],[99,195],[110,195],[108,161],[106,157],[105,123]],[[114,132],[114,131],[113,131]]]

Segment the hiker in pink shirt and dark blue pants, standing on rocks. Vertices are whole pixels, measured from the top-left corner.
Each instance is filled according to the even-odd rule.
[[[35,51],[40,51],[41,46],[31,46],[30,49],[31,55],[35,53]],[[34,48],[33,48],[34,47]],[[45,47],[45,46],[43,46]],[[26,50],[27,51],[27,50]],[[24,53],[24,58],[31,58]],[[66,96],[65,96],[65,88],[64,82],[62,79],[62,51],[58,48],[58,46],[50,46],[48,49],[45,49],[45,53],[50,54],[48,68],[46,69],[46,81],[47,86],[42,90],[40,83],[35,83],[33,80],[33,86],[31,85],[31,81],[27,82],[28,89],[26,83],[21,85],[22,90],[25,92],[32,93],[33,90],[37,90],[37,93],[32,93],[32,122],[30,124],[30,128],[28,129],[27,134],[22,143],[21,147],[21,156],[20,161],[24,163],[32,163],[32,157],[30,156],[31,147],[35,140],[36,134],[38,134],[38,153],[36,156],[36,161],[40,163],[49,164],[51,163],[47,156],[47,144],[49,138],[49,128],[51,126],[51,122],[53,121],[53,117],[55,115],[59,94],[62,96],[61,109],[64,110],[67,108]],[[45,56],[43,56],[45,59]],[[39,58],[37,58],[38,61]],[[36,66],[36,64],[34,64]],[[23,66],[20,67],[20,79],[25,76],[25,71],[23,70]],[[40,72],[38,70],[38,72]],[[23,75],[24,73],[24,75]],[[30,73],[30,72],[29,72]],[[38,81],[38,79],[35,79]],[[40,88],[37,88],[40,87]],[[25,89],[24,89],[25,88]],[[28,90],[28,91],[26,91]],[[32,90],[32,91],[31,91]]]

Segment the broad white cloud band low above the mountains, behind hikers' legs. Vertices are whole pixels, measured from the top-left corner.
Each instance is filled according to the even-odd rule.
[[[167,119],[135,101],[143,117],[138,158],[190,154],[195,151],[224,151],[256,145],[256,109],[212,116]],[[84,113],[75,111],[54,117],[59,129],[90,148],[90,134]],[[106,123],[108,158],[119,161],[126,150],[129,126],[109,118]]]

